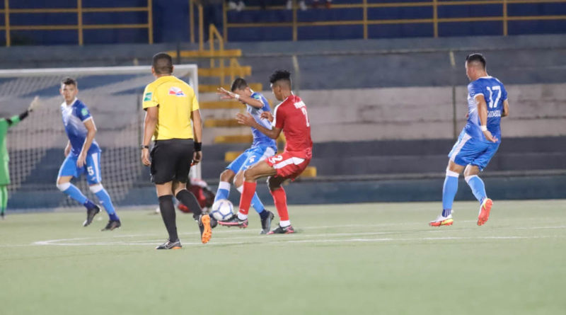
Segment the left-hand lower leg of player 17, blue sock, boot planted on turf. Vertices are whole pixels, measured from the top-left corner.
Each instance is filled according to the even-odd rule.
[[[454,219],[452,219],[452,204],[458,192],[458,176],[460,176],[463,168],[463,166],[454,163],[454,161],[449,161],[442,188],[442,213],[439,214],[437,219],[429,222],[431,227],[448,226],[454,223]]]

